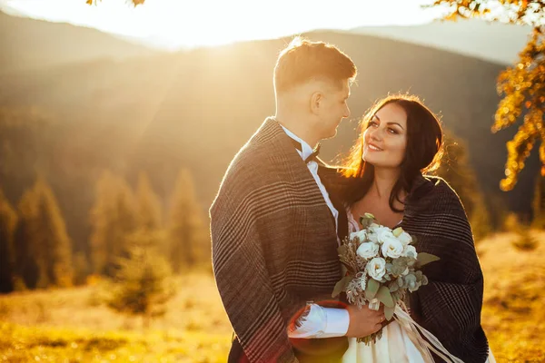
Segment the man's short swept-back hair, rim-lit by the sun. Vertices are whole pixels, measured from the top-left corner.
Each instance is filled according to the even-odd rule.
[[[282,93],[314,78],[325,78],[341,87],[343,80],[352,80],[356,74],[352,59],[334,45],[310,42],[298,36],[278,55],[274,89]]]

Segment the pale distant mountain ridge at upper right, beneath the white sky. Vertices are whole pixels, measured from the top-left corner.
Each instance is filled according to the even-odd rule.
[[[528,42],[531,29],[529,25],[469,19],[435,21],[426,25],[362,26],[352,29],[352,32],[432,46],[489,62],[512,64]]]

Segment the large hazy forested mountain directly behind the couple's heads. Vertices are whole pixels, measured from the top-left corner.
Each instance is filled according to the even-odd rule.
[[[387,93],[421,96],[468,145],[489,201],[530,211],[535,152],[514,191],[499,182],[515,127],[490,133],[502,66],[375,36],[314,32],[352,56],[350,121],[323,142],[331,160],[358,137],[358,119]],[[182,167],[208,208],[233,155],[274,113],[272,69],[289,39],[246,42],[114,62],[94,60],[0,75],[0,184],[16,203],[39,173],[53,185],[76,250],[86,248],[94,183],[105,169],[135,182],[141,170],[168,206]],[[496,204],[494,204],[496,205]]]

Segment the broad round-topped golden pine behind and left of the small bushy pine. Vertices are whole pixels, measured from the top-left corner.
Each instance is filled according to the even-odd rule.
[[[93,270],[114,276],[116,261],[126,253],[125,240],[137,226],[133,191],[122,178],[103,173],[96,184],[91,224]]]

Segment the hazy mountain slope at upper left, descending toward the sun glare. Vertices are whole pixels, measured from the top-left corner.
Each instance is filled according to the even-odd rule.
[[[142,45],[80,26],[49,23],[0,12],[0,73],[46,68],[98,58],[154,54]]]

